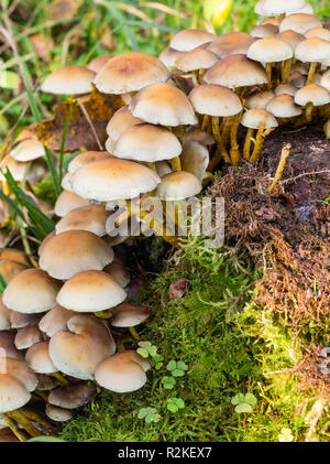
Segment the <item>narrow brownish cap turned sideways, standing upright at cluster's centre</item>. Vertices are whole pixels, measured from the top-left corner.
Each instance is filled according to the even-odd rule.
[[[210,162],[209,151],[205,145],[193,141],[184,143],[180,160],[183,171],[190,172],[202,181]]]

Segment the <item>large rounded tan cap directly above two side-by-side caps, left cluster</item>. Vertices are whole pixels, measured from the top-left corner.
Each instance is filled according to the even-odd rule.
[[[67,230],[47,241],[40,256],[40,267],[55,279],[66,280],[77,272],[100,271],[112,260],[112,248],[97,235]]]

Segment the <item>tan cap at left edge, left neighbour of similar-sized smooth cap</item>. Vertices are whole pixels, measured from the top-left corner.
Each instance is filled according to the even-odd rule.
[[[26,269],[15,276],[4,289],[3,304],[20,313],[43,313],[55,305],[59,282],[42,269]]]

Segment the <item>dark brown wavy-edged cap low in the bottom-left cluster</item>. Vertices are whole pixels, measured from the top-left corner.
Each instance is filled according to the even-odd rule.
[[[59,408],[77,409],[87,404],[96,393],[97,389],[94,384],[78,381],[55,388],[50,392],[47,401]]]

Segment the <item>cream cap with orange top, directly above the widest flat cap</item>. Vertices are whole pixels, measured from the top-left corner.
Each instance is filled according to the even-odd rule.
[[[144,162],[170,160],[182,151],[182,144],[173,132],[148,123],[130,127],[120,136],[113,149],[114,155],[120,159]]]

